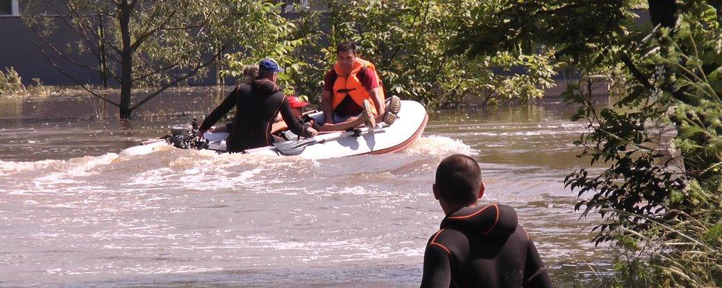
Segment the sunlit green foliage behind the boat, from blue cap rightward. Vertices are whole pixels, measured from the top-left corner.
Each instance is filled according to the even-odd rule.
[[[458,26],[471,21],[460,6],[479,4],[327,1],[326,13],[303,12],[294,20],[271,17],[274,24],[266,30],[273,40],[264,45],[248,41],[238,53],[226,55],[225,73],[238,78],[243,67],[270,56],[287,68],[280,81],[288,93],[318,102],[323,77],[336,62],[336,45],[353,40],[360,57],[375,64],[386,92],[403,99],[457,106],[529,102],[543,96],[544,89],[554,85],[558,68],[549,62],[549,53],[473,59],[448,53]]]

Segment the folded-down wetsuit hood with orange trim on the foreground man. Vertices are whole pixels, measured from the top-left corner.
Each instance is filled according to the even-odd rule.
[[[518,222],[516,211],[512,207],[486,204],[464,207],[453,212],[441,221],[441,229],[452,228],[502,238],[514,233]]]

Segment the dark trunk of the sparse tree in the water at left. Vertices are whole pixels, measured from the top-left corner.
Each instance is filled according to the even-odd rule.
[[[121,51],[121,107],[120,107],[120,118],[121,120],[129,120],[131,117],[131,89],[133,89],[133,82],[131,76],[133,75],[133,51],[131,50],[131,11],[132,7],[128,3],[128,0],[122,0],[120,4],[121,17],[121,40],[123,41],[123,47]]]

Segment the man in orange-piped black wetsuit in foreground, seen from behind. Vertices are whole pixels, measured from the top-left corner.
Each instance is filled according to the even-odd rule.
[[[432,186],[446,217],[424,252],[421,287],[552,287],[534,242],[503,204],[479,204],[477,161],[448,156]]]

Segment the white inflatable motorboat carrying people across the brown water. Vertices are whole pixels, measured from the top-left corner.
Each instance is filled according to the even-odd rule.
[[[401,101],[401,110],[393,125],[383,122],[375,127],[360,127],[350,131],[319,133],[314,138],[287,136],[289,141],[274,143],[261,148],[245,150],[243,153],[269,156],[299,156],[309,159],[345,157],[364,154],[393,153],[409,147],[424,132],[429,117],[426,109],[418,102]],[[194,127],[195,128],[195,127]],[[162,139],[149,140],[142,145],[123,150],[121,156],[139,156],[152,153],[160,146],[173,145],[178,148],[198,148],[225,153],[226,132],[204,133],[204,139],[193,140],[193,130],[178,132]]]

